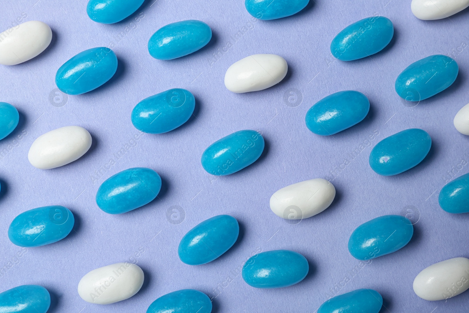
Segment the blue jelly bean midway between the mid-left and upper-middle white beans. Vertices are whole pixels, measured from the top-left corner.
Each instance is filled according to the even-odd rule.
[[[196,100],[187,90],[166,90],[140,101],[132,110],[132,124],[145,133],[166,133],[187,122],[195,106]]]

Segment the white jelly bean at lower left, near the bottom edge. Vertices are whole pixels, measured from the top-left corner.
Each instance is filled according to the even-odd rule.
[[[144,284],[144,272],[132,263],[115,263],[93,269],[78,282],[86,302],[111,304],[134,296]]]

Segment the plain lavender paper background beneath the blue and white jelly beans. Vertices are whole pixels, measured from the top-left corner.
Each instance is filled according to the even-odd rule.
[[[257,21],[243,2],[147,0],[124,21],[102,25],[88,18],[84,0],[2,1],[2,31],[15,21],[40,20],[51,26],[53,42],[33,60],[0,66],[0,101],[20,112],[17,129],[0,141],[0,291],[42,285],[53,298],[51,313],[145,312],[159,296],[184,288],[213,297],[215,313],[314,312],[328,298],[358,288],[382,294],[381,312],[463,311],[469,292],[429,302],[414,294],[412,282],[435,262],[469,257],[469,215],[449,214],[438,205],[441,187],[469,168],[468,137],[453,126],[454,115],[469,102],[468,10],[421,21],[412,15],[410,1],[311,0],[296,15]],[[390,45],[370,58],[336,61],[329,51],[333,37],[372,15],[393,21]],[[147,42],[153,32],[186,19],[208,23],[212,41],[180,59],[151,58]],[[55,93],[61,64],[85,49],[111,43],[119,67],[108,83],[79,96]],[[255,53],[284,57],[287,77],[264,91],[229,92],[223,84],[226,69]],[[437,53],[458,62],[455,83],[418,105],[399,98],[394,91],[399,73]],[[139,133],[130,122],[132,108],[170,88],[195,95],[195,116],[166,134]],[[371,102],[370,114],[334,136],[311,133],[304,124],[306,111],[341,90],[363,92]],[[61,168],[33,168],[27,153],[34,139],[68,125],[90,131],[90,151]],[[414,127],[433,140],[425,160],[397,176],[374,173],[368,164],[372,147]],[[263,156],[230,176],[206,173],[200,164],[204,149],[242,129],[262,132]],[[100,183],[130,167],[149,167],[161,175],[158,198],[127,214],[102,212],[94,201]],[[271,212],[273,192],[317,177],[330,179],[337,190],[327,210],[295,225]],[[9,223],[25,210],[47,205],[67,206],[75,214],[75,228],[58,243],[18,254],[22,249],[7,237]],[[217,214],[239,221],[238,242],[219,260],[197,267],[183,264],[177,256],[182,236]],[[354,259],[347,250],[351,232],[384,214],[407,214],[415,223],[414,237],[400,251],[371,264]],[[302,253],[310,262],[309,275],[282,289],[247,285],[237,269],[254,253],[275,249]],[[83,275],[123,261],[144,270],[137,295],[112,305],[89,304],[78,296]]]

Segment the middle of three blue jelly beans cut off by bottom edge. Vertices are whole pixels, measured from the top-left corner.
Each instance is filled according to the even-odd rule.
[[[194,289],[183,289],[159,297],[146,313],[210,313],[212,301],[206,294]]]

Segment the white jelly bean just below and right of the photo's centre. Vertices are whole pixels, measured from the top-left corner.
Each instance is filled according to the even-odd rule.
[[[325,179],[315,178],[275,191],[270,197],[270,209],[286,220],[301,220],[324,211],[334,197],[334,185]]]

